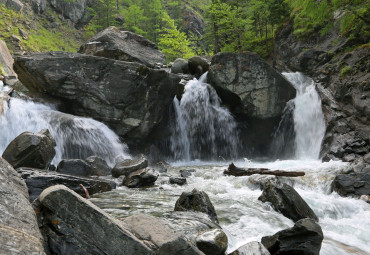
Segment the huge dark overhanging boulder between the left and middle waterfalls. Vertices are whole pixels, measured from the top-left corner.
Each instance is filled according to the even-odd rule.
[[[69,113],[106,123],[133,150],[168,137],[158,127],[177,93],[174,74],[69,52],[18,57],[15,70],[28,89],[68,102]]]

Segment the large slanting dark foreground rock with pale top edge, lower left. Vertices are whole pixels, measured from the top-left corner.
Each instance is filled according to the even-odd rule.
[[[52,254],[154,254],[122,222],[63,185],[44,190],[34,205]]]

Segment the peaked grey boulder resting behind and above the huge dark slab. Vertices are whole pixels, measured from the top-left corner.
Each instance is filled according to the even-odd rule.
[[[166,64],[166,57],[156,44],[143,36],[120,31],[113,26],[89,39],[81,46],[79,53],[138,62],[148,67],[154,67],[157,63]]]

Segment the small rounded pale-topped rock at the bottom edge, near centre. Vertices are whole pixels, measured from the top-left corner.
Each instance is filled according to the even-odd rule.
[[[213,229],[200,234],[196,239],[197,247],[206,255],[224,255],[228,240],[220,229]]]

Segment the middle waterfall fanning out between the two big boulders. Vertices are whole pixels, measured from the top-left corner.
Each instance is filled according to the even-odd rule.
[[[237,125],[221,106],[214,88],[206,83],[207,73],[189,81],[179,101],[173,100],[175,123],[171,151],[176,160],[235,158],[238,151]]]

